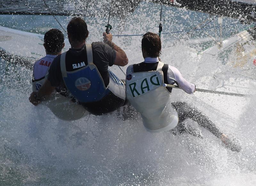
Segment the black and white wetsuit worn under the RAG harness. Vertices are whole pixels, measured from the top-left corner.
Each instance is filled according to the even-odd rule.
[[[158,58],[145,58],[145,61],[139,64],[134,64],[132,66],[132,72],[145,72],[145,71],[156,71],[158,66]],[[164,75],[164,83],[165,84],[174,84],[176,83],[182,90],[186,93],[192,94],[195,92],[196,86],[192,83],[189,83],[185,80],[180,71],[168,64],[164,64],[163,68],[163,75]],[[168,89],[171,93],[172,89]],[[152,100],[148,100],[152,101]],[[162,100],[163,101],[163,100]],[[164,100],[165,101],[165,100]],[[169,100],[166,100],[169,101]],[[184,126],[184,120],[190,118],[196,121],[199,125],[203,126],[204,128],[208,129],[212,132],[216,137],[220,138],[221,132],[216,127],[214,123],[202,112],[200,112],[196,107],[189,105],[185,102],[173,102],[172,106],[176,109],[178,116],[179,116],[179,123],[177,124],[178,129],[181,133],[184,132],[191,132],[189,128]]]

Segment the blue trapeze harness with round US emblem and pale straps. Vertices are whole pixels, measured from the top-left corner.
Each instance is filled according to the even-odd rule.
[[[66,52],[61,54],[60,68],[68,91],[93,115],[102,115],[121,107],[125,101],[125,86],[110,70],[107,87],[93,63],[92,45],[86,45],[85,61],[82,68],[67,71]]]

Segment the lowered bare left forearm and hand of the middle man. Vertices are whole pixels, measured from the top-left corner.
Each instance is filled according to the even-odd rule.
[[[40,87],[39,91],[36,92],[32,92],[30,94],[29,97],[29,101],[33,104],[33,105],[38,105],[42,100],[47,99],[51,93],[54,91],[55,86],[51,85],[51,82],[47,79],[44,82],[44,85]]]

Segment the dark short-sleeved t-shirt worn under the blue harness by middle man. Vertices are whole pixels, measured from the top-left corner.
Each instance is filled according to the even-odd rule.
[[[105,86],[108,86],[109,84],[108,66],[112,66],[114,64],[116,60],[116,51],[103,42],[93,42],[92,55],[93,55],[93,63],[95,64],[98,71],[100,72],[100,75],[104,81]],[[78,70],[79,68],[73,69],[73,64],[80,63],[83,61],[86,61],[86,65],[87,65],[87,55],[86,55],[85,47],[82,47],[80,49],[69,48],[66,54],[67,71]],[[51,82],[52,86],[65,87],[62,74],[61,74],[61,69],[60,69],[60,55],[53,60],[50,66],[48,80]]]

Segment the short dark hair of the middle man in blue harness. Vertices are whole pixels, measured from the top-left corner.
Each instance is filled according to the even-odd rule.
[[[67,26],[68,34],[75,41],[83,41],[88,37],[89,31],[87,25],[82,18],[72,18]]]

